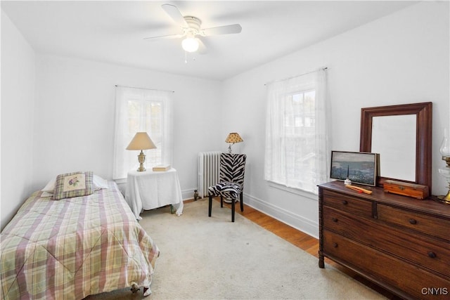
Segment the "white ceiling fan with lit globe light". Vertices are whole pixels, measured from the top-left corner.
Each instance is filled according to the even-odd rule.
[[[183,38],[181,46],[187,52],[199,51],[206,53],[205,44],[198,37],[209,37],[219,34],[235,34],[242,31],[239,24],[225,25],[219,27],[202,28],[202,21],[192,15],[182,15],[179,9],[172,4],[162,4],[162,9],[169,15],[176,24],[180,25],[182,33],[168,34],[158,37],[146,37],[144,39],[160,39],[160,38]]]

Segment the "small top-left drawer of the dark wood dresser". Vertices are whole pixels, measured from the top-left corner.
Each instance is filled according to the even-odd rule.
[[[334,193],[330,190],[323,190],[323,205],[335,207],[350,214],[359,214],[369,218],[373,216],[371,201],[342,193]]]

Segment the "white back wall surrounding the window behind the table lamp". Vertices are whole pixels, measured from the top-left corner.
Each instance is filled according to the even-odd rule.
[[[58,174],[113,175],[115,84],[174,91],[174,161],[184,198],[197,188],[198,152],[219,138],[220,82],[76,58],[37,56],[33,187]],[[137,153],[136,153],[137,155]]]

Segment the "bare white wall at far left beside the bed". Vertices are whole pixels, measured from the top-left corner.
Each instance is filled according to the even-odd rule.
[[[34,51],[1,11],[1,229],[33,192],[33,118]]]

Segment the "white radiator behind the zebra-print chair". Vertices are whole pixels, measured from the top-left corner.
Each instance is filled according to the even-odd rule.
[[[219,182],[221,151],[198,153],[198,195],[207,197],[208,188]]]

